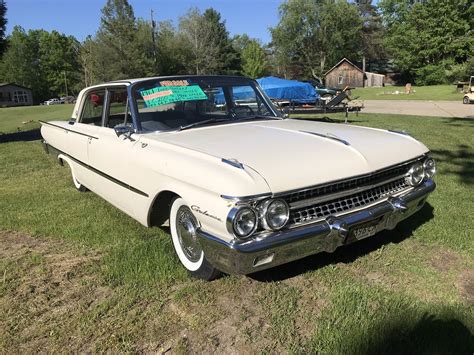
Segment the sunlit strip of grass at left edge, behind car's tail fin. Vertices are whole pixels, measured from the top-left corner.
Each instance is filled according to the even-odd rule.
[[[74,105],[0,108],[0,134],[39,128],[38,121],[68,120]]]

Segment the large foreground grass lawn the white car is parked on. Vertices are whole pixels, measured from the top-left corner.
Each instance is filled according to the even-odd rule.
[[[15,130],[6,110],[0,131]],[[333,254],[210,283],[183,271],[166,230],[77,192],[38,140],[0,138],[0,353],[472,354],[474,121],[349,119],[432,150],[428,204]]]

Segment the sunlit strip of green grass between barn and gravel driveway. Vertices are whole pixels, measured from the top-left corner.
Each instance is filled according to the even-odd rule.
[[[454,85],[413,86],[413,93],[406,95],[404,86],[385,86],[381,88],[357,88],[352,96],[361,100],[448,100],[462,102],[463,94],[456,92]],[[399,92],[396,94],[396,92]]]

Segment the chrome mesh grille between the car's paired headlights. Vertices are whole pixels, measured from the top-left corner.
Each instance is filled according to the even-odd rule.
[[[399,178],[388,182],[387,184],[379,185],[374,188],[333,199],[316,203],[311,206],[306,206],[298,209],[292,209],[290,212],[290,225],[299,224],[311,221],[313,219],[321,219],[331,215],[349,211],[357,207],[368,205],[377,200],[388,197],[397,192],[408,188],[405,179]]]

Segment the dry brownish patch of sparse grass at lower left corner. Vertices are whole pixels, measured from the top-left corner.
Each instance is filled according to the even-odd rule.
[[[0,231],[0,245],[0,350],[54,349],[71,315],[110,294],[87,272],[97,253],[12,231]]]

